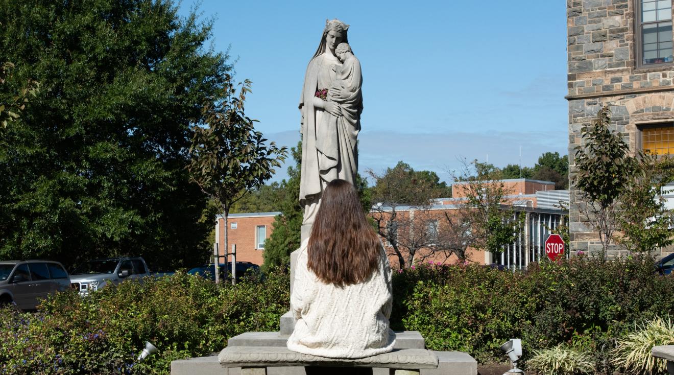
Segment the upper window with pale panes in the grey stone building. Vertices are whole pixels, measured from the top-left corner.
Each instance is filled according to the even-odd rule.
[[[636,0],[638,65],[672,63],[672,0]]]

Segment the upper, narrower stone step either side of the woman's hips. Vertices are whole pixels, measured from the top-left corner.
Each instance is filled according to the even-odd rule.
[[[232,337],[228,347],[284,347],[290,335],[280,332],[247,332]],[[416,330],[396,332],[394,349],[425,349],[425,341]]]

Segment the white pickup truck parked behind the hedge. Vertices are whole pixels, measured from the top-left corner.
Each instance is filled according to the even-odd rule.
[[[102,289],[106,285],[119,284],[127,279],[142,279],[150,276],[148,265],[143,258],[104,258],[90,260],[73,270],[71,285],[81,295]]]

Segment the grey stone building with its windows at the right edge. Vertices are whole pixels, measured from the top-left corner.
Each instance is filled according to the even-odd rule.
[[[669,154],[674,147],[672,0],[568,0],[570,176],[580,129],[601,106],[611,110],[611,130],[633,152]],[[572,252],[601,251],[570,188]],[[609,256],[621,254],[619,246]]]

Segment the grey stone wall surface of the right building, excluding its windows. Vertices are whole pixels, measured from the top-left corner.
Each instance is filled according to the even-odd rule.
[[[580,129],[605,105],[611,109],[611,130],[634,152],[640,148],[640,124],[674,121],[674,67],[637,67],[633,0],[569,0],[567,5],[570,249],[594,253],[601,243],[584,223],[572,183]],[[621,252],[612,246],[608,255]]]

